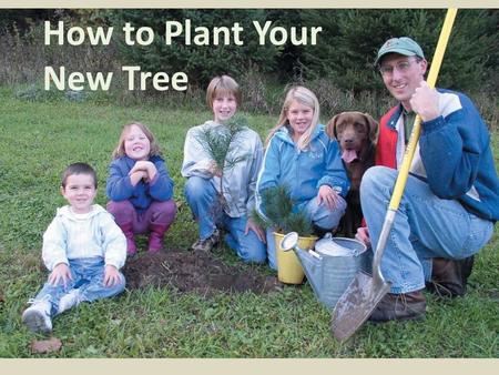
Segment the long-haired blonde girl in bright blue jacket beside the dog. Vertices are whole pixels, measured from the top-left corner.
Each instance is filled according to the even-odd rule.
[[[258,211],[265,219],[262,193],[285,186],[293,210],[303,211],[320,231],[335,229],[345,213],[348,178],[338,152],[318,124],[316,95],[304,87],[292,88],[284,100],[277,125],[266,140],[266,152],[256,185]],[[269,266],[276,270],[273,229],[267,230]]]

